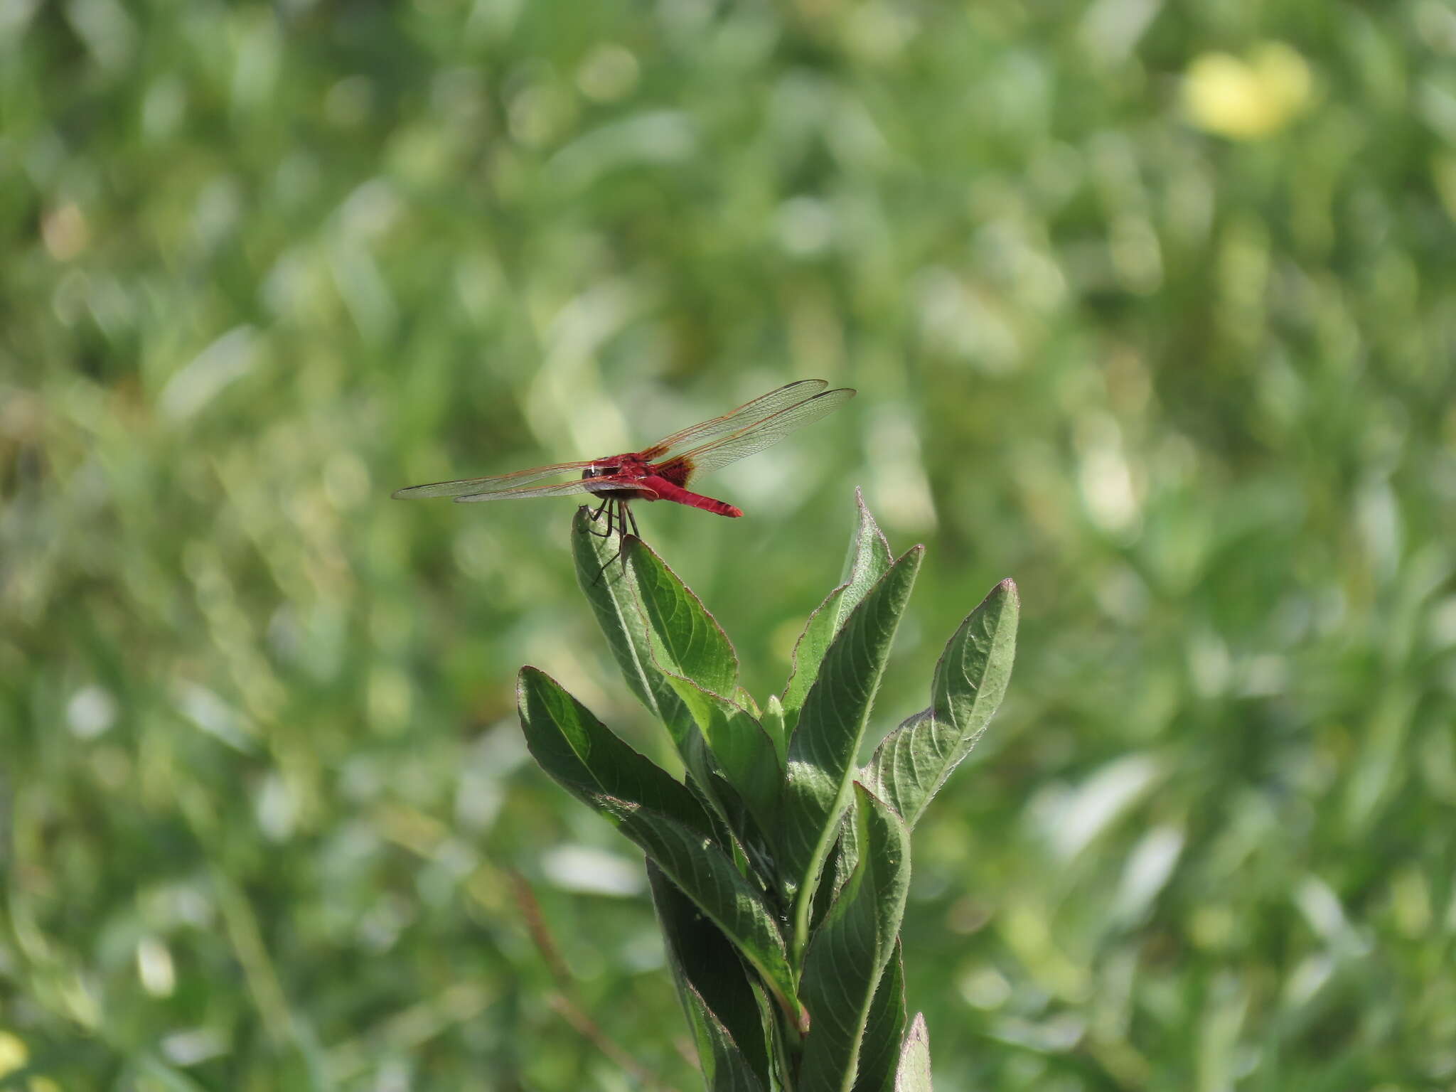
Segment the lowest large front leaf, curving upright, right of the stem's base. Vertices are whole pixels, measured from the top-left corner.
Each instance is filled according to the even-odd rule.
[[[798,1092],[853,1089],[875,987],[894,955],[904,914],[910,831],[859,783],[855,827],[859,862],[814,932],[804,960],[799,999],[810,1013],[810,1034],[804,1040]],[[885,1044],[875,1042],[869,1053],[878,1059],[884,1051]]]

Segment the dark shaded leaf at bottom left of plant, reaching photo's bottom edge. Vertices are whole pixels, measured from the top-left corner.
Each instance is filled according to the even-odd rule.
[[[763,1092],[769,1045],[748,973],[728,938],[651,860],[646,874],[709,1092]]]

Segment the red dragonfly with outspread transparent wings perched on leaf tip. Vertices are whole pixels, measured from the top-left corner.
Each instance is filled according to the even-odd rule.
[[[502,501],[514,496],[571,496],[591,494],[601,504],[591,513],[597,520],[607,514],[607,530],[613,523],[620,531],[630,526],[638,533],[636,518],[628,510],[630,501],[674,501],[689,508],[702,508],[715,515],[737,518],[743,510],[712,496],[687,491],[687,483],[700,473],[756,454],[776,444],[789,432],[818,421],[855,397],[852,387],[824,390],[821,379],[801,379],[786,387],[745,402],[729,414],[684,428],[641,451],[587,459],[579,463],[537,466],[495,478],[466,478],[459,482],[435,482],[397,489],[395,496],[453,496],[457,502]],[[542,478],[566,473],[581,476],[571,482],[530,485]]]

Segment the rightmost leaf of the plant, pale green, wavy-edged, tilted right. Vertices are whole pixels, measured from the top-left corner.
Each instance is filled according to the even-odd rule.
[[[914,827],[930,798],[981,738],[1010,681],[1021,601],[1010,579],[967,616],[935,665],[930,708],[884,738],[866,783]]]

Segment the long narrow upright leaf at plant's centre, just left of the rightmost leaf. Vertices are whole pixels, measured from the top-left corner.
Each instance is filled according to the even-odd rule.
[[[796,951],[807,941],[814,885],[849,805],[859,744],[923,555],[923,546],[906,550],[855,607],[789,740],[779,850],[785,884],[796,891]]]

